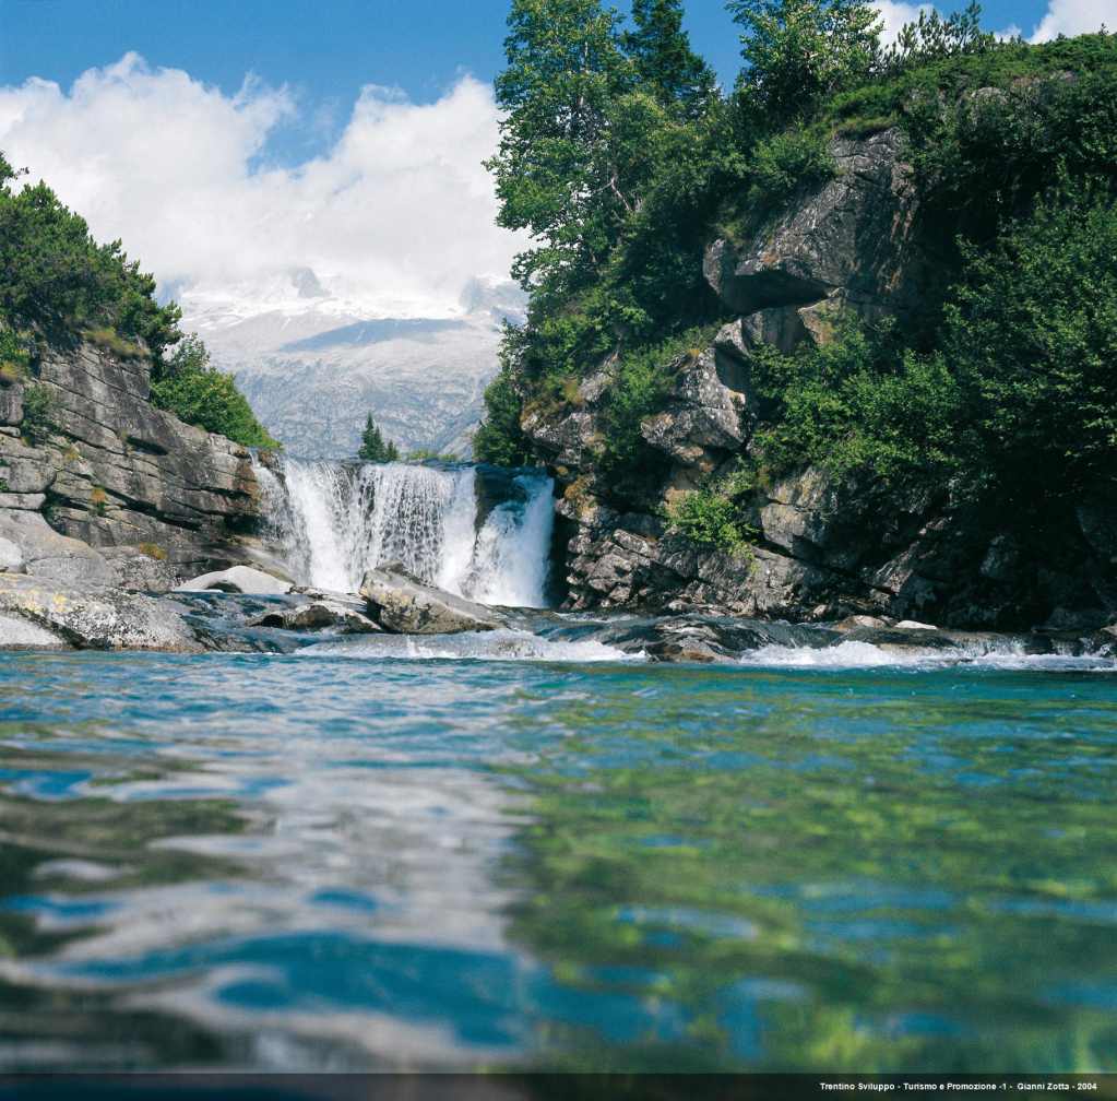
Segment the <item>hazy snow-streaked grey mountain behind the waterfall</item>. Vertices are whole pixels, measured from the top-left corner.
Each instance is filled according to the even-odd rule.
[[[458,303],[370,303],[309,268],[250,284],[169,288],[213,364],[232,371],[257,417],[296,455],[356,453],[372,414],[401,452],[469,454],[496,374],[499,325],[523,320],[514,283],[472,279]]]

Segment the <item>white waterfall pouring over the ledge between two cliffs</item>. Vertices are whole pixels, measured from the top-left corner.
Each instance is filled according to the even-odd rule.
[[[472,466],[269,462],[256,463],[268,534],[298,583],[353,592],[365,570],[402,562],[471,600],[545,605],[554,511],[542,472],[484,468],[498,475],[493,504]]]

